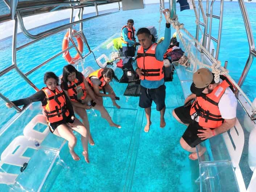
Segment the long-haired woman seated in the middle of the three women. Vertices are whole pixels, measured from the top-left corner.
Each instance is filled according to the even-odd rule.
[[[121,128],[120,125],[113,123],[110,115],[103,106],[102,97],[94,94],[83,74],[77,71],[73,65],[66,65],[63,68],[61,87],[70,98],[75,113],[82,118],[88,130],[89,143],[91,145],[94,145],[94,141],[90,133],[90,124],[85,110],[91,108],[91,106],[87,105],[88,103],[95,105],[93,108],[100,111],[101,116],[108,121],[110,126]]]

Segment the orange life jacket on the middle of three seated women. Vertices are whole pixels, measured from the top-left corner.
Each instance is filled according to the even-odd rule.
[[[74,82],[67,83],[67,92],[70,100],[74,102],[82,102],[87,95],[83,81],[79,81],[77,78]]]

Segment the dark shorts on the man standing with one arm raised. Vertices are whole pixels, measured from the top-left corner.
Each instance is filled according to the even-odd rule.
[[[156,89],[148,89],[140,86],[140,101],[141,108],[149,108],[152,101],[156,104],[156,110],[161,111],[165,107],[165,85],[161,85]]]

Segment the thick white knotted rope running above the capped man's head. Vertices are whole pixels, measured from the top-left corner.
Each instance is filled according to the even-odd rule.
[[[178,21],[178,17],[175,15],[174,18],[170,18],[168,19],[169,23],[173,26],[174,29],[176,29],[177,31],[177,35],[179,36],[179,39],[181,40],[182,44],[184,46],[186,46],[186,42],[184,40],[184,38],[182,37],[182,33],[180,32],[180,29],[182,29],[183,31],[186,32],[186,34],[194,41],[197,43],[197,45],[205,52],[205,54],[207,54],[207,56],[213,61],[212,65],[206,65],[203,64],[202,62],[200,62],[198,59],[195,58],[193,53],[189,53],[188,52],[188,58],[190,61],[192,62],[197,62],[197,64],[201,67],[207,67],[209,69],[212,69],[212,73],[214,73],[214,80],[216,83],[219,82],[219,75],[226,75],[228,77],[228,79],[231,80],[231,82],[235,85],[235,87],[239,90],[239,92],[241,93],[241,95],[244,96],[244,98],[247,100],[247,102],[249,103],[249,105],[251,105],[252,107],[252,102],[249,100],[249,98],[245,95],[245,93],[241,90],[241,88],[238,86],[238,84],[236,84],[235,80],[232,79],[232,77],[228,74],[228,70],[226,70],[224,67],[221,66],[221,62],[219,60],[216,60],[215,57],[212,56],[211,53],[209,53],[207,51],[207,49],[205,47],[203,47],[201,45],[200,42],[198,42],[197,39],[194,38],[193,35],[190,34],[189,31],[187,31],[184,27],[183,23],[179,23]],[[210,38],[208,40],[208,42],[210,43]],[[188,45],[187,45],[188,46]],[[186,48],[186,50],[190,50],[190,48]]]

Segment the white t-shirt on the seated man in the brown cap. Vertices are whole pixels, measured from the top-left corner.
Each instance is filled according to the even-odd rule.
[[[236,106],[238,105],[238,100],[235,97],[235,94],[228,87],[223,93],[222,97],[219,100],[219,110],[220,115],[223,119],[233,119],[236,117]],[[191,115],[191,118],[194,119],[195,114]],[[195,119],[199,122],[199,117]]]

